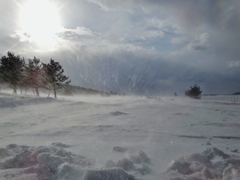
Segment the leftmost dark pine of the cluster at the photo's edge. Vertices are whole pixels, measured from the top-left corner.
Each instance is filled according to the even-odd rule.
[[[7,56],[1,58],[0,72],[2,80],[10,84],[13,88],[13,93],[17,93],[17,86],[23,80],[25,61],[20,56],[15,56],[14,53],[8,52]]]

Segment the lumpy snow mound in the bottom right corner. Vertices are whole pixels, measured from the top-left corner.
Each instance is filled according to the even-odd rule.
[[[168,169],[172,180],[237,180],[240,157],[231,156],[213,147],[173,161]]]

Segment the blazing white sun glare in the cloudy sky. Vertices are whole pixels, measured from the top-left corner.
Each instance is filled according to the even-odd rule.
[[[30,0],[21,7],[20,26],[31,42],[51,46],[61,29],[58,10],[48,0]]]

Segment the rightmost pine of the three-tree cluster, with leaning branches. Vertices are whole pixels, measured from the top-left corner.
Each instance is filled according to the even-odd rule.
[[[43,63],[44,71],[44,84],[49,89],[54,91],[54,97],[57,98],[57,89],[63,88],[66,85],[69,85],[71,80],[68,80],[69,77],[65,76],[62,66],[55,62],[53,59],[50,59],[49,64]]]

